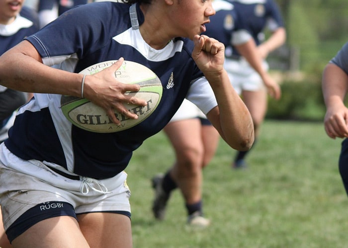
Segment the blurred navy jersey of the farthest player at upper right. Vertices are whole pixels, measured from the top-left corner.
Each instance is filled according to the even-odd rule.
[[[244,16],[244,24],[253,36],[256,45],[262,42],[265,28],[271,31],[283,27],[283,19],[273,0],[229,0]],[[234,51],[237,53],[237,51]]]

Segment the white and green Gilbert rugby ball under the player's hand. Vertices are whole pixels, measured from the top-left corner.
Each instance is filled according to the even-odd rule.
[[[99,62],[88,66],[80,73],[92,75],[97,73],[116,61]],[[138,119],[129,119],[115,111],[115,116],[121,124],[116,125],[110,121],[105,110],[86,98],[72,96],[61,97],[61,109],[64,116],[74,125],[91,132],[118,132],[128,129],[143,122],[157,108],[162,98],[162,84],[158,76],[148,67],[131,61],[124,61],[119,69],[115,71],[115,78],[127,84],[138,84],[140,90],[137,92],[126,92],[128,95],[144,99],[148,104],[145,107],[124,103],[124,106],[132,113],[138,115]]]

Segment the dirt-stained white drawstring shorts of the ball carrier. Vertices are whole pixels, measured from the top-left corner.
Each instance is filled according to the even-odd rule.
[[[75,214],[110,211],[130,216],[126,179],[125,172],[103,180],[69,179],[40,161],[16,157],[2,143],[0,205],[4,228],[7,230],[22,214],[44,202],[69,203]]]

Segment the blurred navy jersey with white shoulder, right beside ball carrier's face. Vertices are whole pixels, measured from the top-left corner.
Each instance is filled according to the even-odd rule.
[[[213,1],[216,14],[210,16],[210,23],[206,24],[205,35],[223,43],[228,57],[233,45],[246,43],[251,39],[248,26],[243,16],[234,4],[226,0]]]

